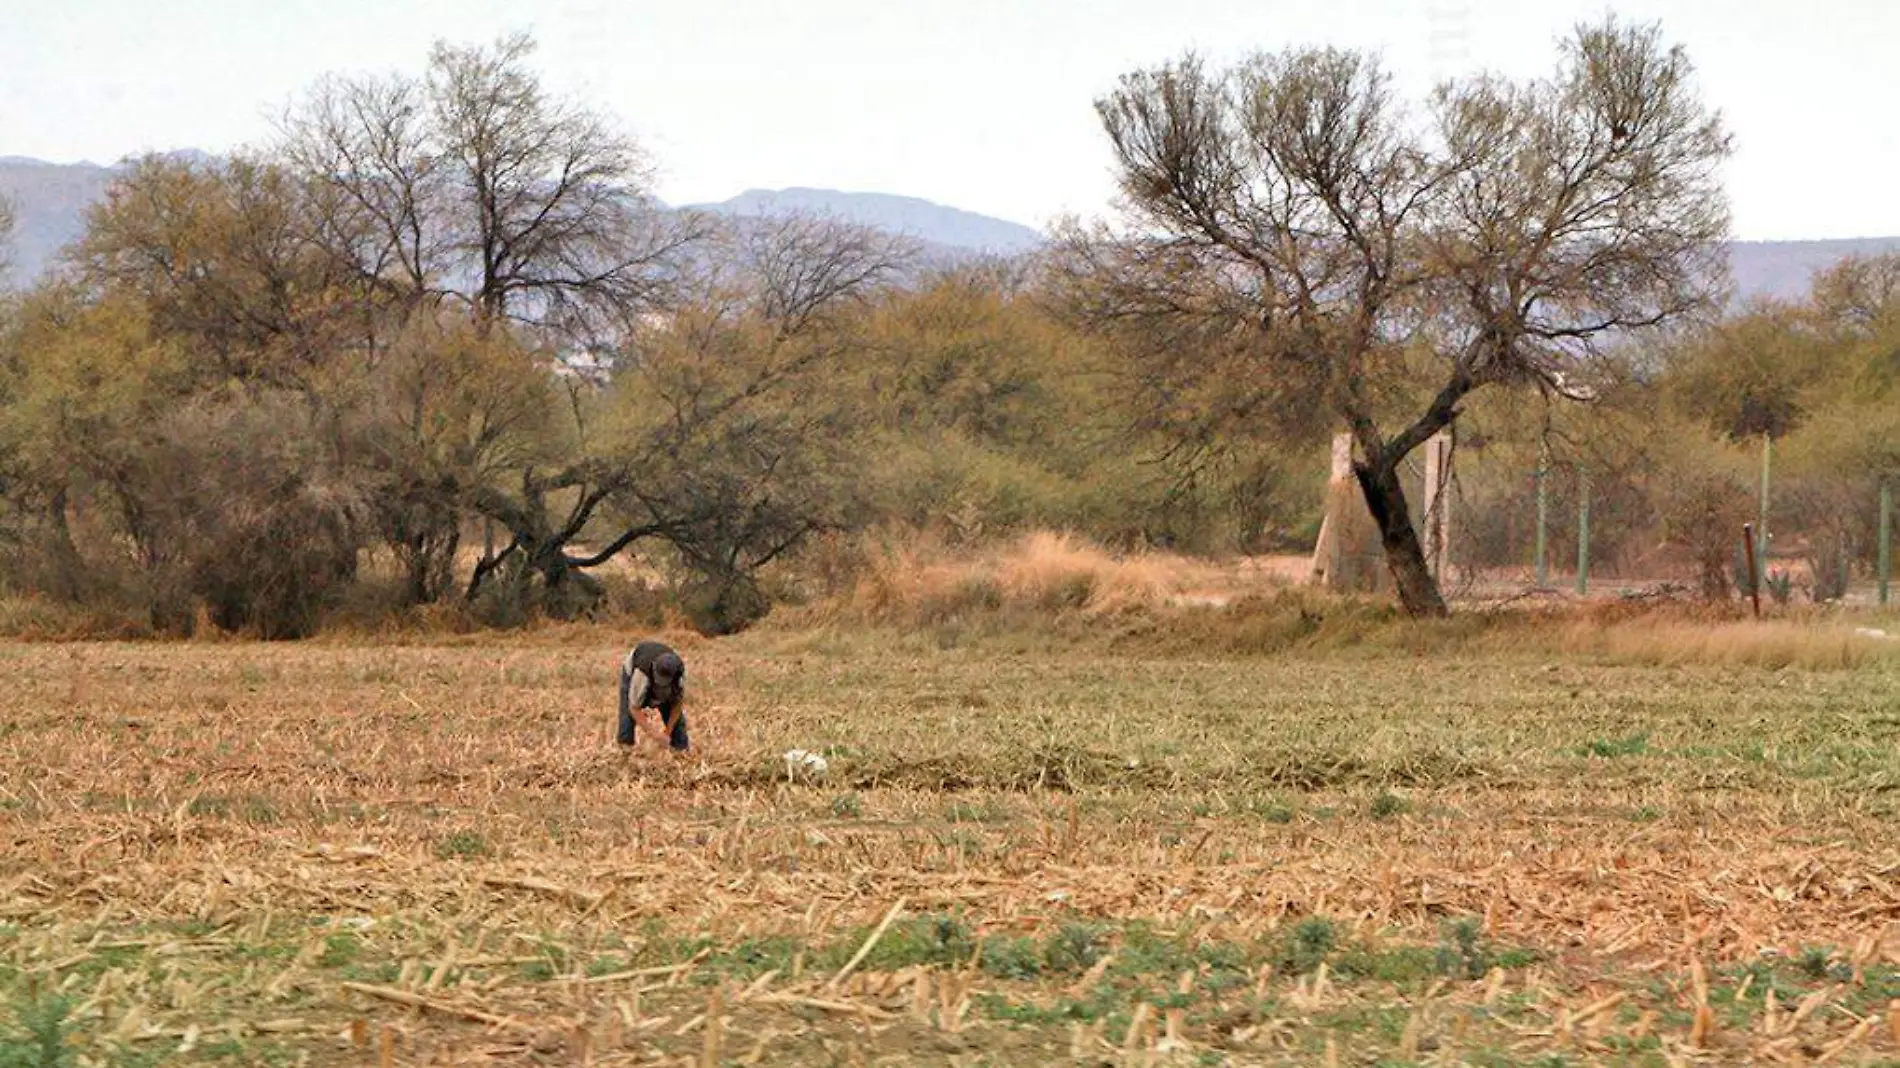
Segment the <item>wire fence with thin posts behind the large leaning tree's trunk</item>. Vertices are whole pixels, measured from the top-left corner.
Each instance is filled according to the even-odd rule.
[[[1385,591],[1378,530],[1336,441],[1313,580]],[[1894,483],[1873,473],[1776,481],[1759,469],[1592,469],[1539,450],[1421,448],[1402,467],[1412,521],[1440,589],[1512,597],[1744,599],[1890,604]],[[1433,485],[1433,483],[1438,485]],[[1750,561],[1744,530],[1754,540]]]

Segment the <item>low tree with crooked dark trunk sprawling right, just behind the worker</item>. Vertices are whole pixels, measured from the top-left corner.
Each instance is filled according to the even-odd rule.
[[[819,471],[844,429],[811,372],[849,350],[846,312],[902,268],[906,245],[809,217],[722,238],[728,255],[692,298],[629,334],[604,391],[572,386],[566,450],[479,490],[509,542],[477,564],[471,597],[509,574],[540,578],[557,606],[585,602],[589,568],[657,538],[707,580],[712,616],[743,620],[750,572],[832,523]]]

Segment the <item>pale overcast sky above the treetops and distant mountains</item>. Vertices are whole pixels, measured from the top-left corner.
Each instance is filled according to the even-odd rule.
[[[420,72],[524,29],[659,196],[895,192],[1039,226],[1102,211],[1091,101],[1199,48],[1376,49],[1404,89],[1537,74],[1577,19],[1661,19],[1738,141],[1738,238],[1900,234],[1894,0],[0,0],[0,156],[228,150],[327,70]]]

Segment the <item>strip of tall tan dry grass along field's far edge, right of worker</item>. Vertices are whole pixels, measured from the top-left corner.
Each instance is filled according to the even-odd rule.
[[[1074,644],[1138,656],[1537,650],[1613,663],[1814,671],[1900,659],[1900,627],[1870,612],[1778,608],[1758,621],[1740,604],[1524,599],[1414,621],[1389,599],[1326,595],[1300,585],[1302,578],[1303,561],[1108,553],[1051,532],[984,551],[902,534],[866,544],[842,593],[781,612],[781,625],[870,623],[927,635],[939,646],[1001,652]]]

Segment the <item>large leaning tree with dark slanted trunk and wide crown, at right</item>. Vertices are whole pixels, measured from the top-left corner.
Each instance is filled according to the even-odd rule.
[[[1096,105],[1129,228],[1072,232],[1058,277],[1091,323],[1170,353],[1157,410],[1189,441],[1343,422],[1400,601],[1442,614],[1402,460],[1472,390],[1575,393],[1600,340],[1706,296],[1729,141],[1689,74],[1615,21],[1552,78],[1440,87],[1423,124],[1340,49],[1129,74]]]

